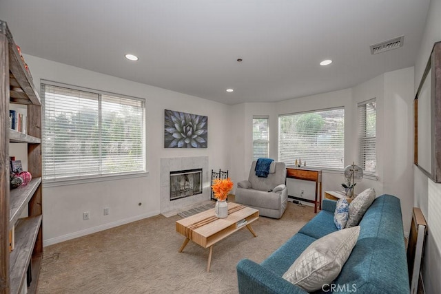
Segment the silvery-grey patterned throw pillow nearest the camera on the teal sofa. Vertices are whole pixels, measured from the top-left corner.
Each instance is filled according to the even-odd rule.
[[[325,235],[308,246],[283,278],[307,292],[320,290],[340,274],[356,245],[360,227],[353,227]]]

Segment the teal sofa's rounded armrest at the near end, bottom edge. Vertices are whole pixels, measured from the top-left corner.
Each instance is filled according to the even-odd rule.
[[[240,294],[280,293],[306,294],[302,288],[275,275],[252,260],[240,260],[237,266],[237,280]]]

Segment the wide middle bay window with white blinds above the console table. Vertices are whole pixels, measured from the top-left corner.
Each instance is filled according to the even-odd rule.
[[[343,169],[343,107],[279,116],[278,129],[278,160],[294,165],[301,159],[309,167]]]

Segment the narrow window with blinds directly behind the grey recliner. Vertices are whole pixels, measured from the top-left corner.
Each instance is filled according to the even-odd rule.
[[[253,160],[269,157],[269,118],[253,117]]]

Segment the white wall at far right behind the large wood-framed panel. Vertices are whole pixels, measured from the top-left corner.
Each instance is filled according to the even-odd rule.
[[[441,41],[441,0],[431,0],[426,27],[415,62],[415,87],[418,90],[433,43]],[[422,277],[426,293],[441,292],[441,184],[435,184],[418,167],[413,168],[414,202],[427,221],[429,233],[424,247]]]

